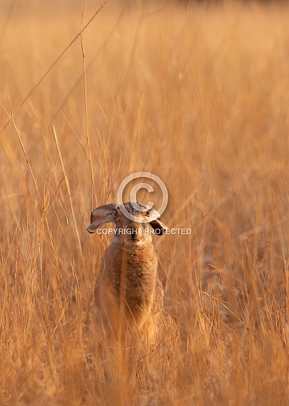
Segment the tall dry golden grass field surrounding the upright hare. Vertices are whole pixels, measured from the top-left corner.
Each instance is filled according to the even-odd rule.
[[[101,6],[58,3],[0,6],[0,404],[288,405],[288,6],[108,1],[52,66]],[[154,238],[167,374],[91,328],[110,237],[85,228],[138,171],[192,230]]]

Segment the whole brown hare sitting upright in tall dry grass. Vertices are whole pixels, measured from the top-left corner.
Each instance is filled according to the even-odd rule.
[[[91,230],[103,219],[115,218],[117,233],[105,250],[101,273],[95,289],[101,324],[105,336],[119,341],[126,332],[140,335],[143,342],[155,343],[158,335],[171,328],[173,321],[163,305],[163,287],[158,277],[158,259],[151,239],[151,224],[165,230],[154,210],[138,212],[131,203],[124,203],[128,212],[147,222],[126,218],[119,206],[101,206],[91,214]],[[145,208],[145,206],[142,206]],[[101,212],[101,217],[98,213]],[[152,217],[158,217],[151,220]],[[151,220],[151,221],[150,221]],[[120,234],[120,230],[132,231]],[[134,233],[133,233],[134,231]],[[175,325],[175,324],[174,324]]]

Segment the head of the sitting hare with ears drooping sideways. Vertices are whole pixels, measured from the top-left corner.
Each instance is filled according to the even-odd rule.
[[[150,242],[152,229],[157,235],[167,229],[156,210],[137,202],[101,205],[91,213],[90,222],[89,233],[95,233],[105,223],[114,223],[114,239],[122,239],[129,245]]]

